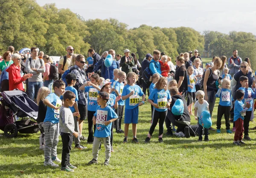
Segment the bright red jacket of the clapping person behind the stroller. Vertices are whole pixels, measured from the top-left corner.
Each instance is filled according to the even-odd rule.
[[[8,69],[6,69],[6,72],[9,73],[9,90],[19,89],[24,91],[22,83],[24,79],[20,75],[20,67],[15,66],[13,63]]]

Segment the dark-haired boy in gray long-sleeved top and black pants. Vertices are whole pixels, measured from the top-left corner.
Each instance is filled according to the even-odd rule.
[[[79,112],[72,114],[70,107],[76,103],[76,95],[71,91],[66,91],[63,95],[63,106],[60,109],[60,129],[62,140],[61,170],[74,172],[75,166],[70,164],[70,150],[73,142],[73,135],[77,138],[79,133],[76,132],[74,125],[74,117],[79,116]]]

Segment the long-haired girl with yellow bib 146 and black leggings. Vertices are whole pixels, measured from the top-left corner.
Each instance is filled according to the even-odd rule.
[[[154,132],[157,122],[159,121],[159,135],[158,141],[163,142],[163,123],[167,115],[167,108],[170,107],[172,102],[171,95],[167,89],[167,79],[161,77],[156,83],[155,89],[151,91],[148,97],[148,103],[154,106],[152,115],[152,124],[150,126],[148,137],[145,139],[145,143],[150,141],[150,138]]]

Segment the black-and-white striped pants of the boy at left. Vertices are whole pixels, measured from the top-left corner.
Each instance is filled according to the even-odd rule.
[[[59,136],[59,123],[44,122],[44,161],[51,161],[51,156],[57,156],[57,145]]]

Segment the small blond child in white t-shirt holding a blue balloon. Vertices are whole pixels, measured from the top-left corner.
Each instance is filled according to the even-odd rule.
[[[201,113],[205,110],[209,111],[209,103],[207,103],[206,100],[204,100],[204,92],[202,90],[198,90],[195,93],[195,97],[198,99],[195,102],[195,120],[198,121]],[[209,141],[208,138],[209,135],[209,129],[204,128],[204,141]],[[203,141],[203,126],[201,126],[200,124],[198,124],[198,141]]]

